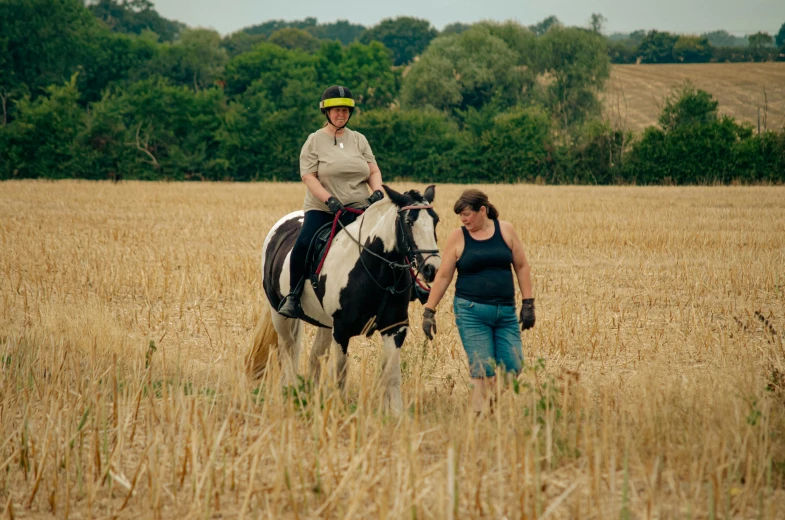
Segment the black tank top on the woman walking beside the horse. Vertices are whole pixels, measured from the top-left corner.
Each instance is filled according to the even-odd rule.
[[[463,229],[463,253],[458,260],[455,296],[476,303],[515,305],[512,279],[512,250],[502,237],[499,221],[493,221],[493,236],[475,240]]]

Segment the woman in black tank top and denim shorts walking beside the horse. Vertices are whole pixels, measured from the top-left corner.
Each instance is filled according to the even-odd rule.
[[[462,227],[454,230],[444,249],[441,267],[423,311],[423,331],[429,339],[436,332],[436,306],[452,282],[455,284],[455,321],[469,358],[474,389],[472,408],[482,412],[494,385],[496,367],[517,374],[523,366],[518,331],[534,326],[534,298],[529,263],[515,228],[499,220],[499,212],[479,190],[466,190],[453,208]],[[512,266],[512,269],[510,268]],[[523,303],[515,316],[518,279]]]

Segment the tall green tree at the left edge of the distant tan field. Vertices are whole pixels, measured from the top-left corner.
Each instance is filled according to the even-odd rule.
[[[598,94],[610,75],[605,39],[579,28],[554,27],[539,39],[538,70],[551,78],[547,104],[567,127],[599,113]]]

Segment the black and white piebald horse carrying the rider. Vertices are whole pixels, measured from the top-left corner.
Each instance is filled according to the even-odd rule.
[[[384,406],[402,411],[400,348],[409,329],[409,302],[417,274],[433,281],[441,264],[436,244],[439,217],[431,203],[435,187],[423,194],[398,193],[370,206],[335,234],[315,282],[306,281],[301,297],[303,319],[319,327],[310,356],[311,376],[320,377],[320,358],[329,352],[330,371],[343,388],[349,339],[379,331],[382,336]],[[289,279],[289,259],[300,232],[303,212],[276,222],[264,241],[262,285],[268,305],[259,319],[246,366],[253,376],[265,369],[271,348],[285,380],[293,381],[300,356],[302,320],[286,318],[279,303],[296,280]]]

